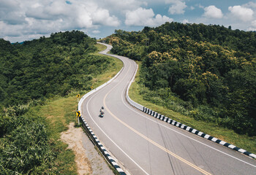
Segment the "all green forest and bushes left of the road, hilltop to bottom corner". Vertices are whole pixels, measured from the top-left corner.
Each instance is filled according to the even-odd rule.
[[[11,44],[0,39],[0,174],[58,174],[61,148],[35,107],[54,96],[89,90],[113,66],[92,55],[96,39],[66,31]]]

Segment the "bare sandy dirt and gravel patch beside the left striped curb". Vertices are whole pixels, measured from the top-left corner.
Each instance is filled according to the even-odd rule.
[[[113,174],[104,158],[95,150],[82,128],[75,128],[75,123],[69,123],[69,129],[61,133],[61,140],[69,145],[75,153],[75,163],[79,175]]]

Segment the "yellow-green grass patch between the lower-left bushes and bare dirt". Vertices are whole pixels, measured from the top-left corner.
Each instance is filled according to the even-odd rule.
[[[51,163],[51,174],[78,174],[74,152],[67,149],[68,145],[60,140],[61,132],[66,131],[68,123],[75,120],[76,106],[76,97],[55,97],[48,99],[44,106],[36,106],[34,109],[36,115],[45,117],[50,147],[56,153],[56,158]]]

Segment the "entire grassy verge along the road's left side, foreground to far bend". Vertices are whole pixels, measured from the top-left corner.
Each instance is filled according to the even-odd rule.
[[[98,51],[105,50],[105,46],[101,44],[96,45]],[[93,53],[92,55],[99,55],[99,53]],[[93,86],[97,88],[104,82],[107,82],[111,77],[114,77],[118,71],[120,71],[123,63],[117,58],[111,58],[113,60],[112,66],[104,74],[100,74],[93,79]],[[37,106],[37,113],[45,117],[48,122],[48,131],[50,133],[50,145],[53,147],[55,152],[58,152],[58,156],[53,163],[53,174],[78,174],[75,154],[71,149],[67,149],[67,144],[60,141],[61,132],[67,131],[70,122],[78,123],[75,112],[78,108],[77,94],[80,96],[87,93],[83,92],[72,92],[67,97],[54,97],[46,101],[45,106]]]

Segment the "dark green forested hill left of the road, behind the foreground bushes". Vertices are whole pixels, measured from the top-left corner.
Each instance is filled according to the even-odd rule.
[[[23,44],[0,40],[0,104],[64,96],[91,86],[92,76],[107,69],[108,58],[90,55],[95,39],[80,31],[51,34]]]

